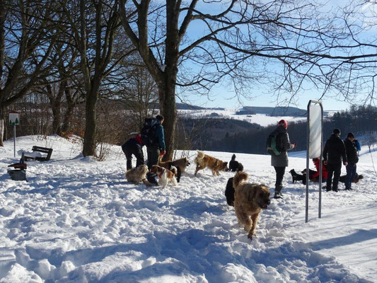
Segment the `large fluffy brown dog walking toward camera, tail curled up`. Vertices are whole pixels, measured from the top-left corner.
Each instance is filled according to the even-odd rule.
[[[258,216],[262,209],[267,209],[269,201],[269,189],[265,185],[243,183],[248,180],[248,174],[238,172],[233,177],[234,209],[238,223],[243,224],[248,231],[248,238],[253,239],[257,227]]]

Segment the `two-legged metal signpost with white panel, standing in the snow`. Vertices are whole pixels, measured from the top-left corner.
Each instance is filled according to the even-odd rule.
[[[322,197],[322,144],[323,144],[323,107],[320,101],[309,100],[308,103],[308,139],[306,146],[306,210],[305,222],[308,222],[309,207],[309,159],[320,158],[320,175],[318,179],[319,203],[318,218],[320,218]]]

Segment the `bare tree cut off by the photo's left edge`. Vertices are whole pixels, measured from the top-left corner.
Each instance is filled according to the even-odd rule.
[[[0,146],[6,108],[49,74],[54,46],[50,1],[0,1]]]

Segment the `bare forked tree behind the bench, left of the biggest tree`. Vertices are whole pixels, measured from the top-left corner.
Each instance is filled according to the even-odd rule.
[[[116,0],[72,0],[60,4],[79,50],[86,93],[83,155],[95,156],[95,108],[101,83],[121,60],[113,58],[114,41],[120,27],[118,4]],[[127,52],[122,55],[125,56]]]

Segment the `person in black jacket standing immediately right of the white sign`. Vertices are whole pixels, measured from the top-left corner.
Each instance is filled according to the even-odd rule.
[[[344,166],[347,166],[346,147],[342,139],[340,139],[340,129],[334,129],[330,138],[327,139],[323,149],[323,161],[327,168],[326,191],[333,190],[337,192],[342,161]],[[334,180],[332,180],[332,175],[334,175]]]

